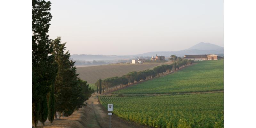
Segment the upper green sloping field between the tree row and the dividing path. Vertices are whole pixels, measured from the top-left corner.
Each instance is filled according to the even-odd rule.
[[[163,94],[223,90],[223,61],[200,61],[178,72],[113,92],[114,94]]]

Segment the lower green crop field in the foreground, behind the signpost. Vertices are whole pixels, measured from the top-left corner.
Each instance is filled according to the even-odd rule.
[[[223,127],[223,93],[100,97],[123,119],[156,128]]]

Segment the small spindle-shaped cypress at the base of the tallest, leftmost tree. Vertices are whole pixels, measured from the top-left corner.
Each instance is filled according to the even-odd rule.
[[[39,121],[44,125],[44,122],[47,120],[47,117],[48,117],[48,107],[47,107],[47,99],[45,97],[40,104]]]

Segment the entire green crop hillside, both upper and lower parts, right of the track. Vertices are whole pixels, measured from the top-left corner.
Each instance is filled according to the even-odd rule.
[[[223,60],[200,61],[172,74],[100,96],[99,100],[105,108],[114,104],[116,116],[141,125],[222,128],[223,65]]]

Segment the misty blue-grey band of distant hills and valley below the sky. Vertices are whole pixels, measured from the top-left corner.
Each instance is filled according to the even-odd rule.
[[[178,57],[184,57],[184,55],[204,55],[204,54],[216,54],[218,56],[224,56],[224,48],[211,43],[200,42],[188,49],[180,51],[159,51],[159,52],[146,52],[142,54],[130,55],[90,55],[90,54],[73,54],[70,59],[76,61],[76,65],[102,65],[109,63],[130,62],[131,59],[137,58],[150,58],[152,56],[165,56],[168,59],[171,55],[177,55]],[[95,60],[95,61],[93,61]]]

